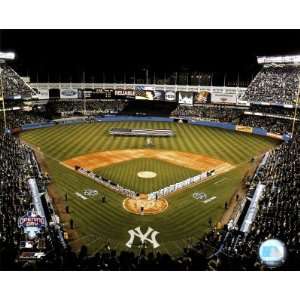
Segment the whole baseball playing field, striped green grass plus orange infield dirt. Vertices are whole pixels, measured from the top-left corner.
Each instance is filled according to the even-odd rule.
[[[148,149],[143,137],[110,136],[108,131],[115,127],[172,129],[176,136],[152,138],[153,147]],[[209,219],[213,224],[221,220],[225,202],[230,202],[251,169],[251,158],[278,144],[246,133],[142,121],[55,126],[23,132],[21,138],[34,146],[49,173],[50,193],[66,228],[70,218],[74,220],[75,229],[69,230],[71,245],[77,249],[84,244],[91,254],[107,243],[120,251],[139,251],[138,227],[149,240],[150,233],[157,232],[155,251],[180,254],[183,247],[209,229]],[[219,172],[167,196],[168,208],[162,213],[137,215],[124,209],[123,195],[76,172],[74,166],[78,164],[139,193],[155,191],[209,169]],[[70,214],[64,212],[66,206]],[[136,233],[132,244],[128,244],[130,230]],[[154,243],[147,245],[153,250]]]

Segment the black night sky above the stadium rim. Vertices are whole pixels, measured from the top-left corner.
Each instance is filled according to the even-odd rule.
[[[0,30],[0,49],[17,54],[12,64],[32,81],[106,82],[157,78],[171,72],[214,72],[249,80],[257,55],[300,53],[299,31],[287,30]]]

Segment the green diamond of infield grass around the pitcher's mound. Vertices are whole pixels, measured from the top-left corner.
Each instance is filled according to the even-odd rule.
[[[157,175],[154,178],[140,178],[137,176],[140,171],[152,171]],[[138,193],[154,192],[200,173],[151,158],[117,163],[94,172]]]

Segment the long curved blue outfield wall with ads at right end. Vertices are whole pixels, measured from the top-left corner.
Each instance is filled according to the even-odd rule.
[[[96,122],[128,122],[128,121],[143,121],[143,122],[167,122],[172,123],[178,120],[182,120],[187,122],[188,124],[195,125],[195,126],[206,126],[206,127],[214,127],[214,128],[221,128],[226,130],[232,131],[239,131],[239,132],[246,132],[260,136],[267,136],[279,140],[288,141],[291,137],[288,134],[280,135],[275,133],[267,132],[267,130],[263,128],[253,128],[248,126],[242,125],[235,125],[232,123],[226,122],[214,122],[214,121],[200,121],[200,120],[193,120],[191,118],[167,118],[167,117],[152,117],[152,116],[116,116],[116,115],[106,115],[104,117],[95,117],[94,120]],[[31,129],[38,129],[38,128],[47,128],[55,125],[67,125],[67,124],[79,124],[79,123],[86,123],[91,121],[87,118],[65,118],[62,120],[54,120],[49,121],[47,123],[33,123],[33,124],[25,124],[21,127],[22,131],[31,130]],[[13,130],[12,130],[13,132]]]

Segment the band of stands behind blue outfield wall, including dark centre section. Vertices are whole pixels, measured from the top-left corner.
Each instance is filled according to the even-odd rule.
[[[159,103],[159,105],[163,104]],[[134,109],[130,109],[130,107],[134,107]],[[144,110],[142,108],[144,108]],[[82,99],[55,100],[49,101],[42,109],[35,108],[32,111],[24,111],[22,109],[8,110],[6,111],[6,119],[8,128],[18,128],[25,124],[47,123],[54,118],[76,115],[152,115],[150,113],[151,108],[153,108],[158,115],[162,116],[165,106],[157,109],[157,107],[149,101],[147,103],[129,103],[124,100],[101,101],[88,99],[85,102]],[[245,114],[245,112],[252,114]],[[170,108],[170,112],[165,109],[165,113],[166,116],[175,118],[232,122],[237,125],[264,128],[268,132],[282,134],[291,131],[291,119],[294,117],[295,109],[263,105],[234,107],[228,105],[205,104],[198,106],[173,105],[173,107]],[[253,115],[254,113],[260,113],[262,115]],[[297,111],[296,125],[299,123],[299,119],[300,110]],[[2,113],[0,114],[0,127],[4,127]]]

